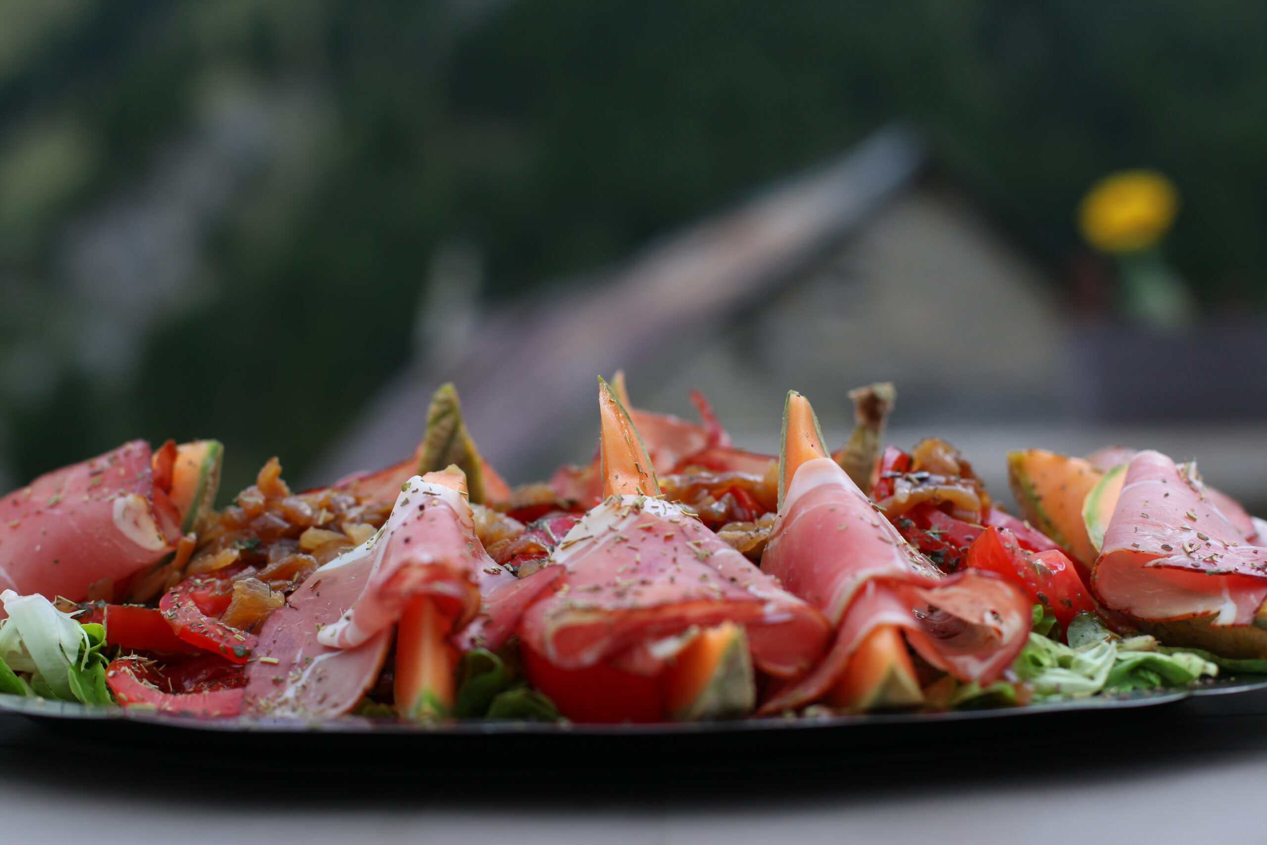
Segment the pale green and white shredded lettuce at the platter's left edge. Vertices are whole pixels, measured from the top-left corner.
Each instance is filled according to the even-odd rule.
[[[79,701],[86,704],[109,704],[114,699],[105,684],[108,660],[105,628],[80,625],[39,594],[18,595],[14,590],[0,593],[0,602],[9,618],[0,621],[0,664],[18,682],[22,693],[0,671],[0,688],[14,694],[29,692],[44,698]],[[29,675],[29,682],[16,673]]]

